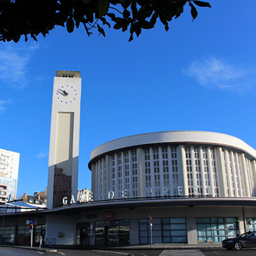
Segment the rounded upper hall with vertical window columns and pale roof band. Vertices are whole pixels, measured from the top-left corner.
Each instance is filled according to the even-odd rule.
[[[94,200],[146,196],[255,197],[256,150],[227,134],[139,134],[95,148]]]

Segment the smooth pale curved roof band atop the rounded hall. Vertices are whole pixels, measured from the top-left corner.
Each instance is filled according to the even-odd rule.
[[[256,158],[256,150],[239,138],[218,132],[207,131],[164,131],[137,134],[108,141],[95,148],[91,153],[91,161],[97,156],[120,148],[156,143],[203,143],[223,145],[237,148]]]

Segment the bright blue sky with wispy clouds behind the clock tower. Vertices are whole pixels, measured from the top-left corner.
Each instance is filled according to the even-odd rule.
[[[0,148],[20,152],[17,195],[47,186],[53,77],[81,71],[79,189],[91,188],[92,150],[157,131],[212,131],[256,148],[256,1],[212,0],[161,24],[106,38],[56,28],[46,38],[0,43]]]

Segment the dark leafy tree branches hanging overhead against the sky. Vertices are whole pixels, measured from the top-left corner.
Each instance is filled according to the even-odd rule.
[[[0,0],[0,40],[19,42],[22,35],[25,41],[29,35],[36,40],[55,26],[72,33],[81,24],[88,36],[93,29],[106,36],[102,26],[114,24],[114,29],[129,29],[130,42],[134,33],[139,36],[142,29],[154,28],[158,19],[168,31],[168,22],[180,16],[186,3],[193,20],[198,15],[195,5],[211,7],[196,0]]]

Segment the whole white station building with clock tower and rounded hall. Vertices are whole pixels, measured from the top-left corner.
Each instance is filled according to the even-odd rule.
[[[56,74],[47,209],[10,206],[0,218],[6,243],[29,243],[28,221],[36,221],[33,241],[44,236],[45,246],[220,243],[256,229],[256,150],[216,132],[152,132],[104,143],[88,163],[89,200],[77,201],[81,79],[79,72]]]

